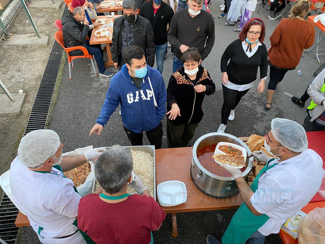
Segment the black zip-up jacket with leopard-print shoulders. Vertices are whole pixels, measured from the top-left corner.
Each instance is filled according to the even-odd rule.
[[[194,86],[200,84],[206,87],[205,92],[198,93],[194,90]],[[178,68],[170,77],[167,87],[167,111],[171,110],[173,103],[177,103],[181,115],[172,120],[172,123],[174,125],[199,123],[204,115],[202,111],[204,96],[211,95],[214,91],[215,85],[210,74],[202,66],[199,66],[195,81],[191,81],[184,73],[184,67]]]

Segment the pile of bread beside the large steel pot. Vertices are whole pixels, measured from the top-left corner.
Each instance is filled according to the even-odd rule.
[[[266,149],[264,147],[264,140],[265,140],[264,136],[258,136],[258,135],[253,134],[249,137],[249,139],[245,143],[247,144],[247,146],[251,150],[251,152],[264,151],[264,153],[266,153],[268,156],[275,158],[274,156],[270,155],[266,151]],[[263,169],[265,164],[266,164],[266,162],[260,162],[260,161],[255,161],[255,160],[253,161],[253,168],[252,168],[253,175],[248,175],[249,182],[253,182],[255,180],[256,175],[261,171],[261,169]]]

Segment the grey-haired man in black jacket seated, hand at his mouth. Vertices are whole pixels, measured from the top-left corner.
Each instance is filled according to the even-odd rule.
[[[82,22],[82,23],[80,23]],[[83,46],[87,48],[88,53],[95,56],[99,75],[112,76],[113,73],[107,71],[104,66],[104,60],[101,50],[97,47],[91,47],[89,40],[86,40],[89,31],[89,22],[85,17],[85,10],[82,7],[76,7],[73,13],[69,13],[62,19],[62,34],[65,47]],[[73,50],[69,52],[70,56],[82,56],[82,50]]]

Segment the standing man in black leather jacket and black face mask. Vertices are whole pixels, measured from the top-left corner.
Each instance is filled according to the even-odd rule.
[[[124,15],[116,18],[113,24],[111,53],[115,68],[121,70],[125,64],[124,49],[130,46],[142,47],[147,64],[152,67],[156,47],[149,20],[136,14],[135,0],[124,0],[122,8]]]

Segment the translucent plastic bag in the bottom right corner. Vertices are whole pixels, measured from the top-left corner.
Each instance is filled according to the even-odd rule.
[[[298,228],[298,243],[325,243],[325,208],[316,208],[310,211],[300,221]]]

